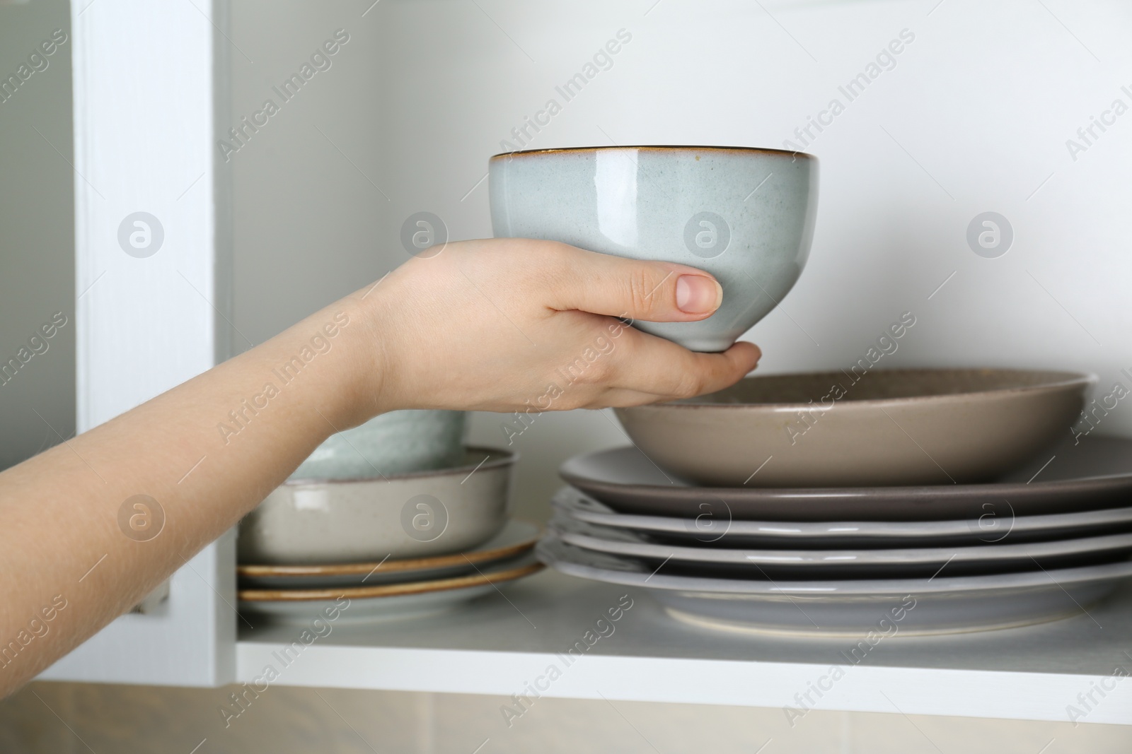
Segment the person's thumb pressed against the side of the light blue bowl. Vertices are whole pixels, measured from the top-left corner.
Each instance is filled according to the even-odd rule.
[[[694,267],[610,257],[554,244],[548,305],[646,322],[693,322],[711,317],[723,288]]]

